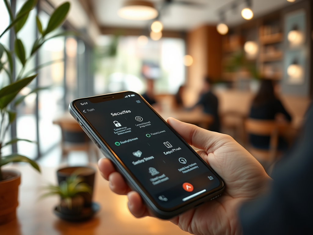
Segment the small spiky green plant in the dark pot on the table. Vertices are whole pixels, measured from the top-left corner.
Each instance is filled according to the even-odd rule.
[[[79,169],[78,169],[79,170]],[[69,209],[72,208],[72,199],[79,196],[79,193],[88,192],[91,193],[91,188],[88,184],[83,183],[83,178],[78,176],[78,171],[75,171],[66,180],[62,181],[60,185],[48,185],[43,189],[48,192],[40,196],[45,198],[52,195],[59,195],[61,199],[64,199]]]

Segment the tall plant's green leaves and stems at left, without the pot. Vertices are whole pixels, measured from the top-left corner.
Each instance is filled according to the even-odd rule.
[[[24,24],[28,19],[29,12],[33,10],[33,8],[37,4],[37,0],[28,0],[24,3],[19,12],[13,15],[10,4],[8,0],[3,0],[8,14],[10,16],[11,24],[1,33],[0,38],[5,34],[8,30],[13,30],[15,35],[14,40],[14,50],[10,51],[3,44],[0,43],[0,72],[4,70],[4,72],[8,75],[8,81],[2,81],[1,84],[6,84],[3,87],[0,87],[0,180],[3,180],[3,175],[1,171],[1,167],[9,162],[28,162],[30,163],[36,170],[40,172],[40,169],[36,162],[23,156],[21,154],[13,153],[8,156],[2,156],[1,149],[4,146],[14,144],[18,141],[28,141],[33,142],[27,139],[18,139],[13,138],[10,141],[4,143],[4,137],[8,132],[10,125],[16,118],[16,112],[14,111],[15,107],[20,104],[26,96],[19,95],[19,92],[27,86],[33,79],[37,76],[35,73],[38,69],[43,66],[50,65],[59,61],[50,61],[43,65],[39,65],[29,71],[25,72],[26,65],[28,61],[38,52],[39,48],[49,39],[68,35],[69,32],[62,32],[59,34],[51,34],[55,29],[57,29],[62,22],[64,21],[67,13],[69,12],[70,4],[68,2],[63,3],[55,11],[52,13],[47,28],[43,29],[42,24],[38,18],[36,17],[36,23],[38,28],[38,37],[33,43],[33,47],[30,55],[26,55],[23,42],[18,38],[18,32],[23,28]],[[2,61],[1,58],[3,55],[6,55],[5,61]],[[13,72],[13,60],[14,56],[21,63],[21,69],[17,73]],[[34,90],[30,91],[29,94],[38,92],[40,87],[36,87]],[[28,95],[29,95],[28,94]]]

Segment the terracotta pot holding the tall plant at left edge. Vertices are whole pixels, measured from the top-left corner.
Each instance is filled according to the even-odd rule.
[[[21,183],[21,174],[18,171],[3,170],[0,181],[0,225],[16,218],[18,206],[18,185]]]

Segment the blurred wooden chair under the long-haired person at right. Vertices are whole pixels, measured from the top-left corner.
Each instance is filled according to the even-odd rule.
[[[260,120],[247,118],[244,121],[244,128],[247,134],[269,136],[269,149],[258,149],[249,147],[249,152],[264,166],[272,165],[279,155],[278,138],[283,135],[288,127],[288,123],[276,122],[274,120]]]

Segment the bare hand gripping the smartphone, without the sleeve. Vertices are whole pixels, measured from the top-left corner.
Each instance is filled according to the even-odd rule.
[[[228,135],[211,132],[168,118],[167,123],[190,145],[203,149],[198,154],[220,175],[226,185],[222,196],[170,219],[192,234],[241,234],[237,210],[243,201],[261,194],[270,177],[259,162]],[[131,191],[109,159],[100,159],[99,169],[110,181],[110,189],[128,196],[135,217],[152,216],[140,195]]]

